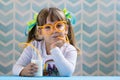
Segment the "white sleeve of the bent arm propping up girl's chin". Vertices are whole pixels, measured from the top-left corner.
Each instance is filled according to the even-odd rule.
[[[60,76],[71,76],[76,65],[76,49],[73,46],[70,46],[66,51],[66,56],[63,55],[60,48],[58,47],[53,48],[50,52],[53,60],[55,61],[55,65],[60,73]]]

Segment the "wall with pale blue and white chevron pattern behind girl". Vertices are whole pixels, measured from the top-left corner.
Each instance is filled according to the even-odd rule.
[[[120,76],[120,0],[0,0],[0,75],[12,75],[26,22],[50,6],[66,7],[76,16],[81,54],[74,75]]]

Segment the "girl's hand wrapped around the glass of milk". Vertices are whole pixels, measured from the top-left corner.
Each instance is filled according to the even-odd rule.
[[[34,63],[28,64],[24,69],[21,71],[20,76],[34,76],[34,73],[37,72],[38,66]]]

